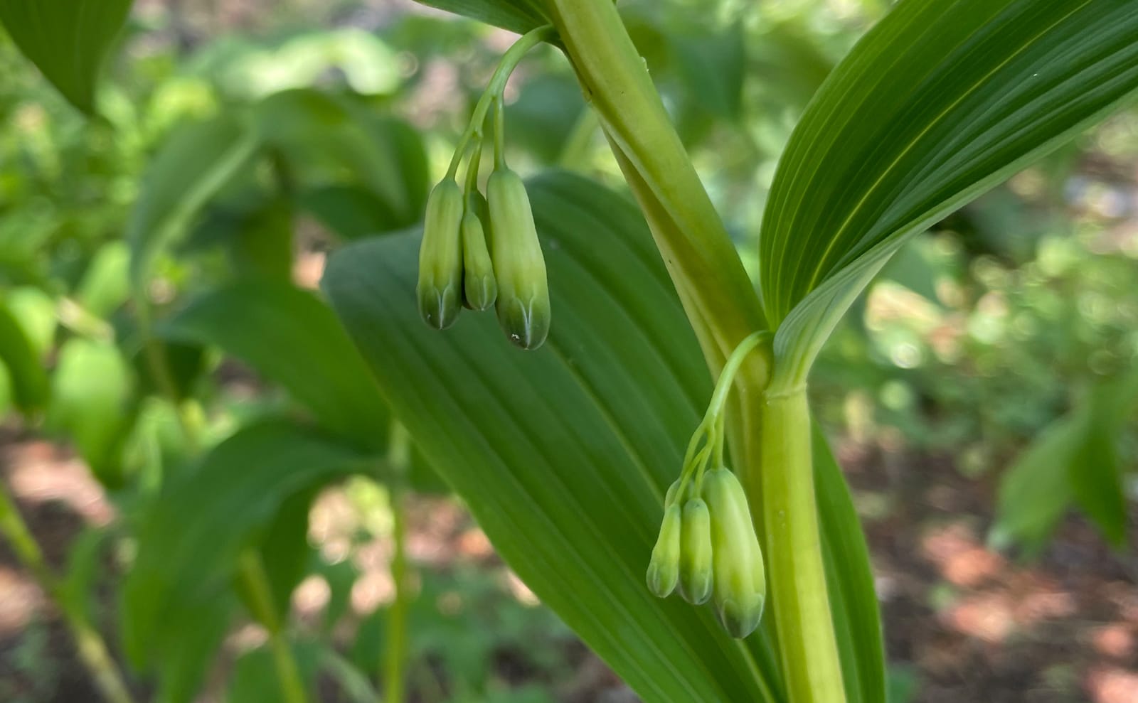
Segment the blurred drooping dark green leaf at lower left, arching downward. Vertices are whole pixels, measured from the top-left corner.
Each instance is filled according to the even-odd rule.
[[[137,667],[198,657],[178,667],[176,695],[166,700],[185,701],[196,689],[203,647],[191,645],[211,642],[197,621],[228,617],[221,606],[241,551],[257,546],[289,497],[365,466],[335,439],[269,421],[242,429],[167,483],[142,516],[121,604],[125,651]],[[192,656],[180,654],[187,647]]]

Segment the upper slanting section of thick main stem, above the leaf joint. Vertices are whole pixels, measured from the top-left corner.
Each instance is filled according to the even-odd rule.
[[[611,0],[547,7],[718,374],[743,338],[766,329],[758,296]]]

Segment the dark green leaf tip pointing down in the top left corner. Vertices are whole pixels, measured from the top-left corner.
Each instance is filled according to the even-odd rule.
[[[92,114],[99,73],[130,10],[131,0],[2,0],[0,23],[67,100]]]

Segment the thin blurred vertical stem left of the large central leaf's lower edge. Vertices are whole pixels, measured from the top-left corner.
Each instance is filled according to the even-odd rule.
[[[391,422],[388,436],[387,465],[391,471],[389,481],[391,502],[391,582],[395,599],[387,619],[387,647],[384,657],[384,701],[402,703],[406,696],[405,675],[407,668],[407,555],[406,516],[403,496],[406,491],[407,465],[411,458],[411,437],[397,421]]]

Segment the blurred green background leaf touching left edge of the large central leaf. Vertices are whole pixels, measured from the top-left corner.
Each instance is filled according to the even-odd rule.
[[[390,415],[371,371],[311,292],[278,281],[231,283],[193,300],[158,333],[221,347],[284,386],[321,425],[363,447],[384,445]]]

